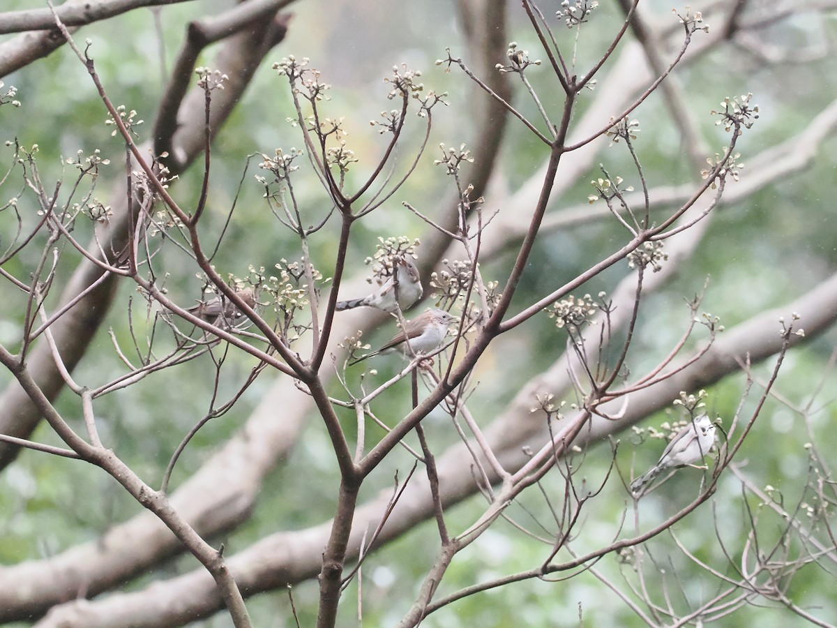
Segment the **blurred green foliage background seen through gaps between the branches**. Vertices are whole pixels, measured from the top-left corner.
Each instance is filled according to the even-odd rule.
[[[19,0],[10,3],[8,9],[31,4]],[[167,67],[171,67],[187,20],[200,13],[196,8],[209,13],[226,6],[219,2],[183,3],[162,9]],[[362,157],[357,166],[357,180],[368,172],[383,146],[384,140],[370,130],[368,121],[376,118],[379,111],[390,108],[385,98],[386,86],[381,79],[388,75],[391,66],[407,62],[411,68],[424,71],[424,80],[432,89],[450,92],[450,106],[435,114],[429,150],[413,178],[382,212],[374,214],[362,229],[357,229],[350,260],[360,265],[364,257],[371,255],[377,236],[406,234],[415,237],[421,234],[423,225],[400,205],[401,201],[409,200],[432,214],[440,198],[442,203],[451,198],[449,182],[432,165],[437,157],[434,151],[439,142],[459,145],[475,135],[475,130],[468,127],[469,99],[473,93],[461,75],[444,74],[434,66],[434,60],[444,56],[447,46],[454,49],[454,54],[464,54],[460,26],[449,4],[440,0],[406,3],[398,12],[388,10],[386,3],[350,2],[300,2],[293,10],[295,18],[291,22],[290,35],[269,59],[280,59],[288,54],[310,57],[323,71],[326,82],[334,85],[326,109],[329,115],[347,116],[352,148]],[[537,44],[526,30],[521,11],[519,8],[510,10],[511,39],[519,38],[521,47],[537,56],[534,52]],[[607,18],[604,23],[616,23],[614,8],[603,8],[602,13]],[[660,14],[661,18],[666,17],[665,11]],[[833,30],[834,21],[812,24],[799,18],[787,27],[772,29],[771,37],[777,44],[787,46],[798,42],[798,45],[807,46],[820,38],[833,40]],[[584,36],[589,39],[584,44],[588,49],[580,56],[579,67],[597,58],[610,32],[608,28],[585,31]],[[129,33],[130,36],[116,39],[112,33]],[[562,37],[566,34],[558,33]],[[117,104],[136,109],[145,119],[139,132],[141,139],[146,139],[164,84],[152,13],[140,10],[106,23],[90,25],[80,30],[78,37],[92,40],[91,52],[96,68],[110,97]],[[212,55],[213,50],[208,50],[200,63],[211,65]],[[824,54],[806,64],[792,61],[765,64],[747,54],[731,55],[727,51],[711,54],[709,58],[689,65],[678,71],[675,78],[688,95],[691,112],[698,116],[704,139],[712,150],[719,150],[728,139],[708,116],[711,108],[726,95],[756,94],[763,116],[738,147],[746,162],[747,157],[793,136],[834,98],[833,86],[823,80],[823,77],[834,75],[834,63],[834,55]],[[560,94],[557,85],[550,85],[546,69],[536,70],[534,76],[537,89],[543,90],[544,102],[555,106]],[[9,76],[6,83],[18,87],[23,110],[11,111],[4,107],[0,111],[0,139],[5,141],[16,136],[24,146],[39,145],[39,167],[48,189],[51,187],[49,182],[71,176],[61,165],[62,158],[74,156],[80,149],[89,153],[99,148],[110,158],[110,167],[98,183],[99,193],[106,196],[110,186],[122,176],[122,147],[121,142],[110,137],[110,127],[104,124],[105,109],[79,61],[69,50],[61,49]],[[517,92],[516,105],[531,119],[537,119],[537,110],[522,91]],[[578,116],[583,109],[584,104]],[[259,173],[255,168],[257,160],[246,167],[248,155],[260,152],[271,155],[279,147],[301,146],[298,131],[286,120],[291,115],[284,79],[275,75],[270,64],[264,64],[234,116],[218,134],[213,150],[211,200],[203,229],[205,234],[217,233],[237,199],[232,229],[216,258],[216,265],[223,272],[241,276],[246,274],[249,265],[264,265],[270,270],[280,258],[293,259],[300,255],[294,235],[276,223],[264,203],[263,190],[254,179],[254,174]],[[660,98],[651,99],[634,116],[639,118],[643,128],[636,147],[649,183],[694,181],[695,173],[691,172],[686,157],[672,157],[682,154],[682,150],[679,136],[665,113],[664,102]],[[506,185],[513,190],[542,164],[545,151],[533,144],[521,125],[512,122],[508,133],[501,162],[504,164],[503,175],[508,179]],[[410,138],[405,146],[414,147],[418,140],[418,137]],[[4,159],[10,154],[8,148],[0,150]],[[837,261],[833,228],[837,221],[837,205],[833,202],[835,152],[837,144],[830,140],[824,144],[813,165],[793,178],[777,181],[742,203],[721,204],[706,236],[706,245],[697,250],[689,264],[681,267],[663,291],[644,301],[636,344],[632,349],[632,371],[640,373],[665,355],[686,325],[688,309],[683,299],[703,291],[707,277],[704,308],[720,316],[721,322],[729,328],[758,311],[782,305],[834,272]],[[480,156],[476,157],[479,159]],[[407,154],[400,157],[403,162],[408,162],[409,158]],[[607,160],[611,172],[619,172],[628,178],[630,162],[622,147],[603,152],[600,158]],[[556,199],[552,211],[585,203],[590,193],[588,181],[597,176],[598,170],[595,170],[580,178],[563,198]],[[196,203],[202,177],[200,168],[193,167],[177,182],[177,198],[184,208]],[[310,169],[302,169],[295,185],[298,198],[312,222],[326,214],[329,210],[326,197]],[[80,226],[80,229],[85,227]],[[336,233],[336,224],[331,224],[312,240],[315,264],[326,276],[334,261]],[[80,239],[85,241],[85,238]],[[532,256],[531,271],[524,275],[517,298],[521,303],[531,301],[547,287],[560,285],[585,270],[600,259],[603,251],[612,250],[623,240],[624,233],[613,221],[583,224],[545,234]],[[179,266],[174,256],[166,260],[167,267],[178,270],[178,275],[167,280],[167,288],[170,295],[177,295],[179,301],[190,304],[199,298],[201,283],[195,277],[197,269],[183,263],[185,260],[183,257]],[[14,267],[15,263],[11,263],[10,272],[19,270]],[[496,260],[485,260],[489,278],[502,279],[508,263],[504,255]],[[627,265],[621,265],[592,281],[583,291],[595,294],[607,290],[628,272]],[[121,296],[126,296],[133,288],[126,284],[121,290],[124,293]],[[136,299],[135,304],[144,307],[141,299]],[[804,327],[804,312],[802,314],[801,325]],[[113,328],[118,340],[126,342],[128,328],[124,310],[112,311],[108,326]],[[0,329],[4,341],[8,341],[7,327]],[[565,337],[547,317],[528,323],[526,331],[514,338],[501,337],[497,348],[487,354],[491,368],[480,373],[477,394],[471,402],[475,416],[493,418],[531,373],[551,363],[564,346]],[[776,387],[788,404],[798,408],[811,405],[816,442],[822,451],[832,451],[837,445],[834,430],[830,429],[837,420],[830,394],[835,383],[833,370],[829,368],[833,347],[834,332],[829,332],[794,350]],[[222,398],[237,388],[254,362],[238,353],[231,354],[229,359],[233,368],[228,370],[229,379],[222,382]],[[382,376],[397,367],[387,359],[383,358],[378,367]],[[105,328],[91,347],[90,357],[78,368],[77,379],[100,383],[121,373],[121,369]],[[757,379],[763,380],[769,370],[768,364],[755,368],[754,373]],[[166,385],[167,377],[152,377],[147,385],[121,390],[101,399],[97,405],[103,439],[116,443],[119,455],[152,486],[159,485],[173,448],[206,411],[204,383],[212,373],[208,360],[188,363],[167,376],[177,378],[177,386]],[[3,377],[7,377],[5,373]],[[825,385],[817,394],[817,386],[823,379]],[[2,383],[6,381],[3,379]],[[218,443],[235,433],[268,386],[269,381],[257,382],[233,411],[210,421],[198,433],[178,462],[172,479],[174,486],[197,470]],[[724,418],[725,427],[729,425],[744,387],[744,378],[737,375],[709,392],[710,411]],[[402,391],[393,391],[391,397],[393,416],[407,408],[409,400]],[[756,399],[755,392],[747,399],[745,415],[752,412]],[[789,409],[788,404],[781,399],[768,401],[742,450],[741,461],[747,462],[747,475],[759,479],[760,488],[768,484],[775,486],[788,502],[793,502],[801,498],[800,486],[808,471],[803,446],[810,436],[802,427],[799,415]],[[79,426],[80,419],[73,416],[74,399],[64,394],[58,406],[70,415],[74,425]],[[660,415],[649,422],[659,425],[669,418],[670,414]],[[341,420],[351,425],[353,415],[345,412],[341,414]],[[444,418],[429,417],[425,428],[439,450],[457,438]],[[370,439],[381,435],[377,428],[370,429]],[[35,438],[57,444],[46,426],[39,429]],[[656,460],[660,450],[659,442],[645,440],[639,443],[626,433],[619,448],[619,466],[623,473],[631,466],[635,472],[640,471]],[[584,475],[593,485],[602,481],[610,459],[608,445],[598,445],[584,458]],[[376,471],[374,487],[368,489],[368,495],[391,486],[395,471],[403,478],[409,466],[409,456],[398,450]],[[266,534],[306,528],[329,519],[333,515],[336,474],[322,425],[312,421],[290,459],[265,481],[254,516],[223,541],[235,551]],[[646,498],[640,507],[643,525],[647,527],[652,521],[660,521],[675,512],[676,507],[696,494],[699,477],[697,471],[683,471],[654,497]],[[3,490],[0,490],[0,525],[4,531],[0,535],[0,562],[3,564],[37,559],[94,539],[110,525],[141,510],[115,481],[95,469],[33,452],[20,456],[0,482],[3,484]],[[547,476],[543,484],[543,490],[553,503],[560,503],[562,483]],[[94,493],[100,496],[100,505],[90,508],[80,496]],[[749,501],[749,507],[758,507],[756,501]],[[510,510],[512,518],[519,518],[533,528],[537,528],[536,521],[542,522],[544,528],[550,529],[550,513],[542,499],[532,497],[521,502],[526,509],[522,504],[516,504]],[[617,537],[627,502],[624,487],[611,477],[603,496],[598,497],[593,510],[586,513],[573,547],[583,553]],[[714,561],[721,565],[718,569],[724,570],[725,559],[716,539],[716,526],[722,528],[727,547],[736,548],[732,551],[733,558],[740,556],[742,534],[746,533],[742,525],[740,483],[731,475],[721,481],[715,503],[714,510],[706,504],[694,516],[675,526],[675,533],[701,560]],[[469,524],[482,512],[483,505],[480,497],[473,497],[452,508],[449,526],[460,529]],[[765,515],[759,528],[769,535],[777,525],[775,518]],[[417,594],[438,543],[434,522],[425,522],[413,533],[382,548],[368,561],[363,568],[362,580],[366,625],[393,625],[398,620]],[[531,569],[546,558],[550,549],[549,545],[501,522],[454,561],[444,577],[441,591],[444,594],[502,574]],[[702,584],[700,571],[682,558],[672,538],[660,535],[649,543],[649,551],[660,564],[665,564],[666,569],[676,572],[682,589],[677,595],[677,604],[685,604],[683,598],[696,604],[712,595],[711,586]],[[167,572],[193,569],[193,566],[192,559],[184,558],[167,568]],[[596,569],[616,583],[620,582],[620,571],[631,578],[631,567],[619,565],[612,557],[603,559]],[[562,575],[566,574],[557,574],[554,579],[559,581],[554,584],[528,581],[460,600],[449,610],[430,615],[423,625],[429,628],[570,626],[580,625],[580,618],[585,625],[644,625],[593,574],[579,574],[560,581]],[[655,579],[656,574],[647,577]],[[830,594],[830,582],[825,582],[822,584],[818,578],[817,568],[809,567],[798,575],[791,594],[799,596],[801,606],[824,607],[824,615],[830,615],[834,620],[837,604]],[[294,598],[300,610],[301,625],[313,625],[317,595],[316,583],[295,587]],[[345,608],[341,611],[341,617],[346,621],[353,616],[349,607],[355,604],[354,595],[357,595],[357,585],[353,584],[347,590]],[[293,625],[284,590],[259,595],[249,601],[249,608],[255,625]],[[749,606],[740,615],[747,623],[757,623],[765,628],[798,620],[770,605],[765,608]],[[218,616],[196,625],[223,626],[228,625],[227,622],[226,618]]]

